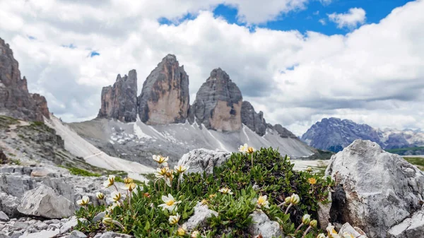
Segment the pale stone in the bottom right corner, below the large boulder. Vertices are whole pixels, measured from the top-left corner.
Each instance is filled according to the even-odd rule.
[[[424,235],[424,208],[414,213],[411,218],[391,227],[389,238],[415,238]]]

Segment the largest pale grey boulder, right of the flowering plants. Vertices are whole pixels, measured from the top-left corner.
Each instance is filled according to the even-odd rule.
[[[377,143],[354,141],[331,157],[326,175],[338,184],[330,211],[333,222],[349,222],[369,237],[390,237],[388,230],[408,222],[421,209],[423,172]],[[406,234],[396,229],[396,234],[402,232]]]

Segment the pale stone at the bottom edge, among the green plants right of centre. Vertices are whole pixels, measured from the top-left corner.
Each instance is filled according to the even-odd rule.
[[[253,237],[261,235],[263,238],[283,237],[283,231],[278,222],[269,220],[262,210],[255,210],[251,215],[252,224],[249,225],[249,233]]]

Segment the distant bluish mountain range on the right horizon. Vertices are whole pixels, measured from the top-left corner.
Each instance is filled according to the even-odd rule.
[[[343,150],[356,139],[370,140],[381,145],[384,150],[393,150],[424,146],[424,131],[375,129],[367,124],[331,117],[312,125],[301,139],[314,148],[333,152]],[[399,151],[413,153],[409,150]]]

